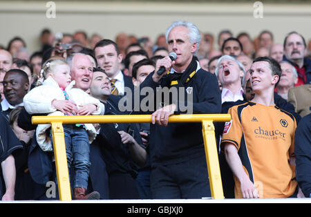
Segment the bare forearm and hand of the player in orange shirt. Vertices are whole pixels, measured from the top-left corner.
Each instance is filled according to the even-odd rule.
[[[225,147],[225,158],[229,164],[229,167],[234,173],[234,176],[236,176],[241,183],[243,198],[259,198],[257,189],[255,188],[253,182],[249,180],[247,173],[245,173],[243,169],[241,158],[238,155],[238,149],[236,149],[234,144],[230,142],[225,142],[223,146]]]

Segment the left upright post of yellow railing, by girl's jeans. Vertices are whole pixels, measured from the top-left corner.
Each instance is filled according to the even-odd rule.
[[[52,122],[51,125],[59,200],[71,200],[64,128],[62,122]]]

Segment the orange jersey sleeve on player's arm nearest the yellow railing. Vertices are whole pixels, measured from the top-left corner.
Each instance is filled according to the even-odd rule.
[[[236,146],[236,149],[240,149],[243,131],[240,118],[238,117],[237,108],[238,106],[233,106],[228,111],[228,113],[231,115],[232,120],[225,123],[225,128],[223,130],[223,136],[220,144],[221,151],[223,151],[225,148],[225,142],[230,142]]]

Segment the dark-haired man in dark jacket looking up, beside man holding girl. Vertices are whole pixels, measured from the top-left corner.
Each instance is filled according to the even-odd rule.
[[[97,68],[93,72],[90,91],[93,97],[99,99],[105,105],[105,115],[126,114],[118,109],[120,97],[111,95],[109,77],[101,68]],[[126,123],[100,124],[99,127],[99,135],[97,135],[95,143],[100,147],[102,158],[106,164],[109,176],[109,198],[140,198],[135,185],[135,178],[138,165],[143,166],[146,161],[146,151],[144,147],[140,146],[142,140],[139,129],[135,124]],[[95,164],[98,163],[100,162],[95,162]],[[97,174],[97,176],[100,177],[101,175]]]

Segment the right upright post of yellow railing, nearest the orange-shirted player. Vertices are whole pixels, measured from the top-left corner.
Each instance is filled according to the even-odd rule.
[[[218,151],[216,146],[215,128],[213,121],[202,120],[202,134],[205,147],[207,170],[209,172],[211,197],[214,199],[223,199],[223,183],[220,176]]]

